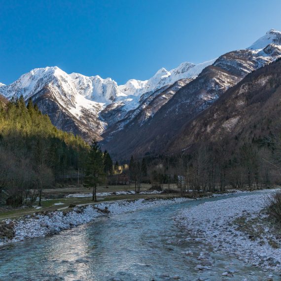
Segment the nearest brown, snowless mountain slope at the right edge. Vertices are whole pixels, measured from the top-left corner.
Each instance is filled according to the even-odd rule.
[[[248,74],[187,122],[167,151],[188,152],[200,142],[222,139],[227,139],[231,146],[259,140],[280,126],[280,116],[281,59]]]

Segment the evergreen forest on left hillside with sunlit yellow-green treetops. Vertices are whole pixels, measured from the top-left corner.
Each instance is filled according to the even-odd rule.
[[[89,145],[58,130],[31,100],[26,105],[21,96],[0,105],[0,201],[20,206],[39,198],[40,206],[42,190],[55,187],[71,173],[80,170],[85,184],[92,182],[95,167],[89,163],[98,167],[97,182],[112,166],[109,154],[95,141]]]

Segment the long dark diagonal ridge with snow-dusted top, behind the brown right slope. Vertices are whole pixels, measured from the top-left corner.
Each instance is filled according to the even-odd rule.
[[[227,89],[248,73],[281,56],[281,46],[269,44],[259,50],[238,50],[219,57],[196,79],[181,87],[148,122],[140,126],[136,120],[122,131],[105,134],[104,147],[112,155],[129,158],[131,154],[163,153],[182,127],[208,108]]]

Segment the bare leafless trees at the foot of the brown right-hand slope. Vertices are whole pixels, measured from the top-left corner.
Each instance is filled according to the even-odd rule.
[[[201,143],[191,153],[146,157],[147,173],[155,188],[173,185],[182,194],[267,188],[280,183],[280,143],[279,135],[236,147],[227,139]]]

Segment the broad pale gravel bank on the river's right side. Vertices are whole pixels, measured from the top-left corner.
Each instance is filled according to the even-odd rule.
[[[266,205],[266,195],[272,192],[276,190],[206,202],[181,211],[176,222],[191,236],[211,244],[214,251],[237,256],[246,264],[280,271],[281,241],[260,223],[267,219],[261,211]]]

